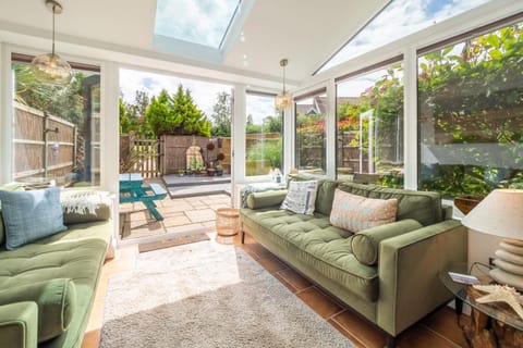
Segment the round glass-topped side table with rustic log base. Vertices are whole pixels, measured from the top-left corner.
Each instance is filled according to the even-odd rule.
[[[523,319],[507,303],[478,303],[476,299],[486,294],[471,285],[452,281],[449,271],[473,274],[483,285],[490,284],[492,279],[488,277],[487,272],[478,270],[477,265],[469,273],[466,263],[453,264],[439,274],[441,282],[454,295],[459,319],[463,315],[463,303],[471,306],[471,320],[459,320],[469,345],[475,348],[523,347]]]

